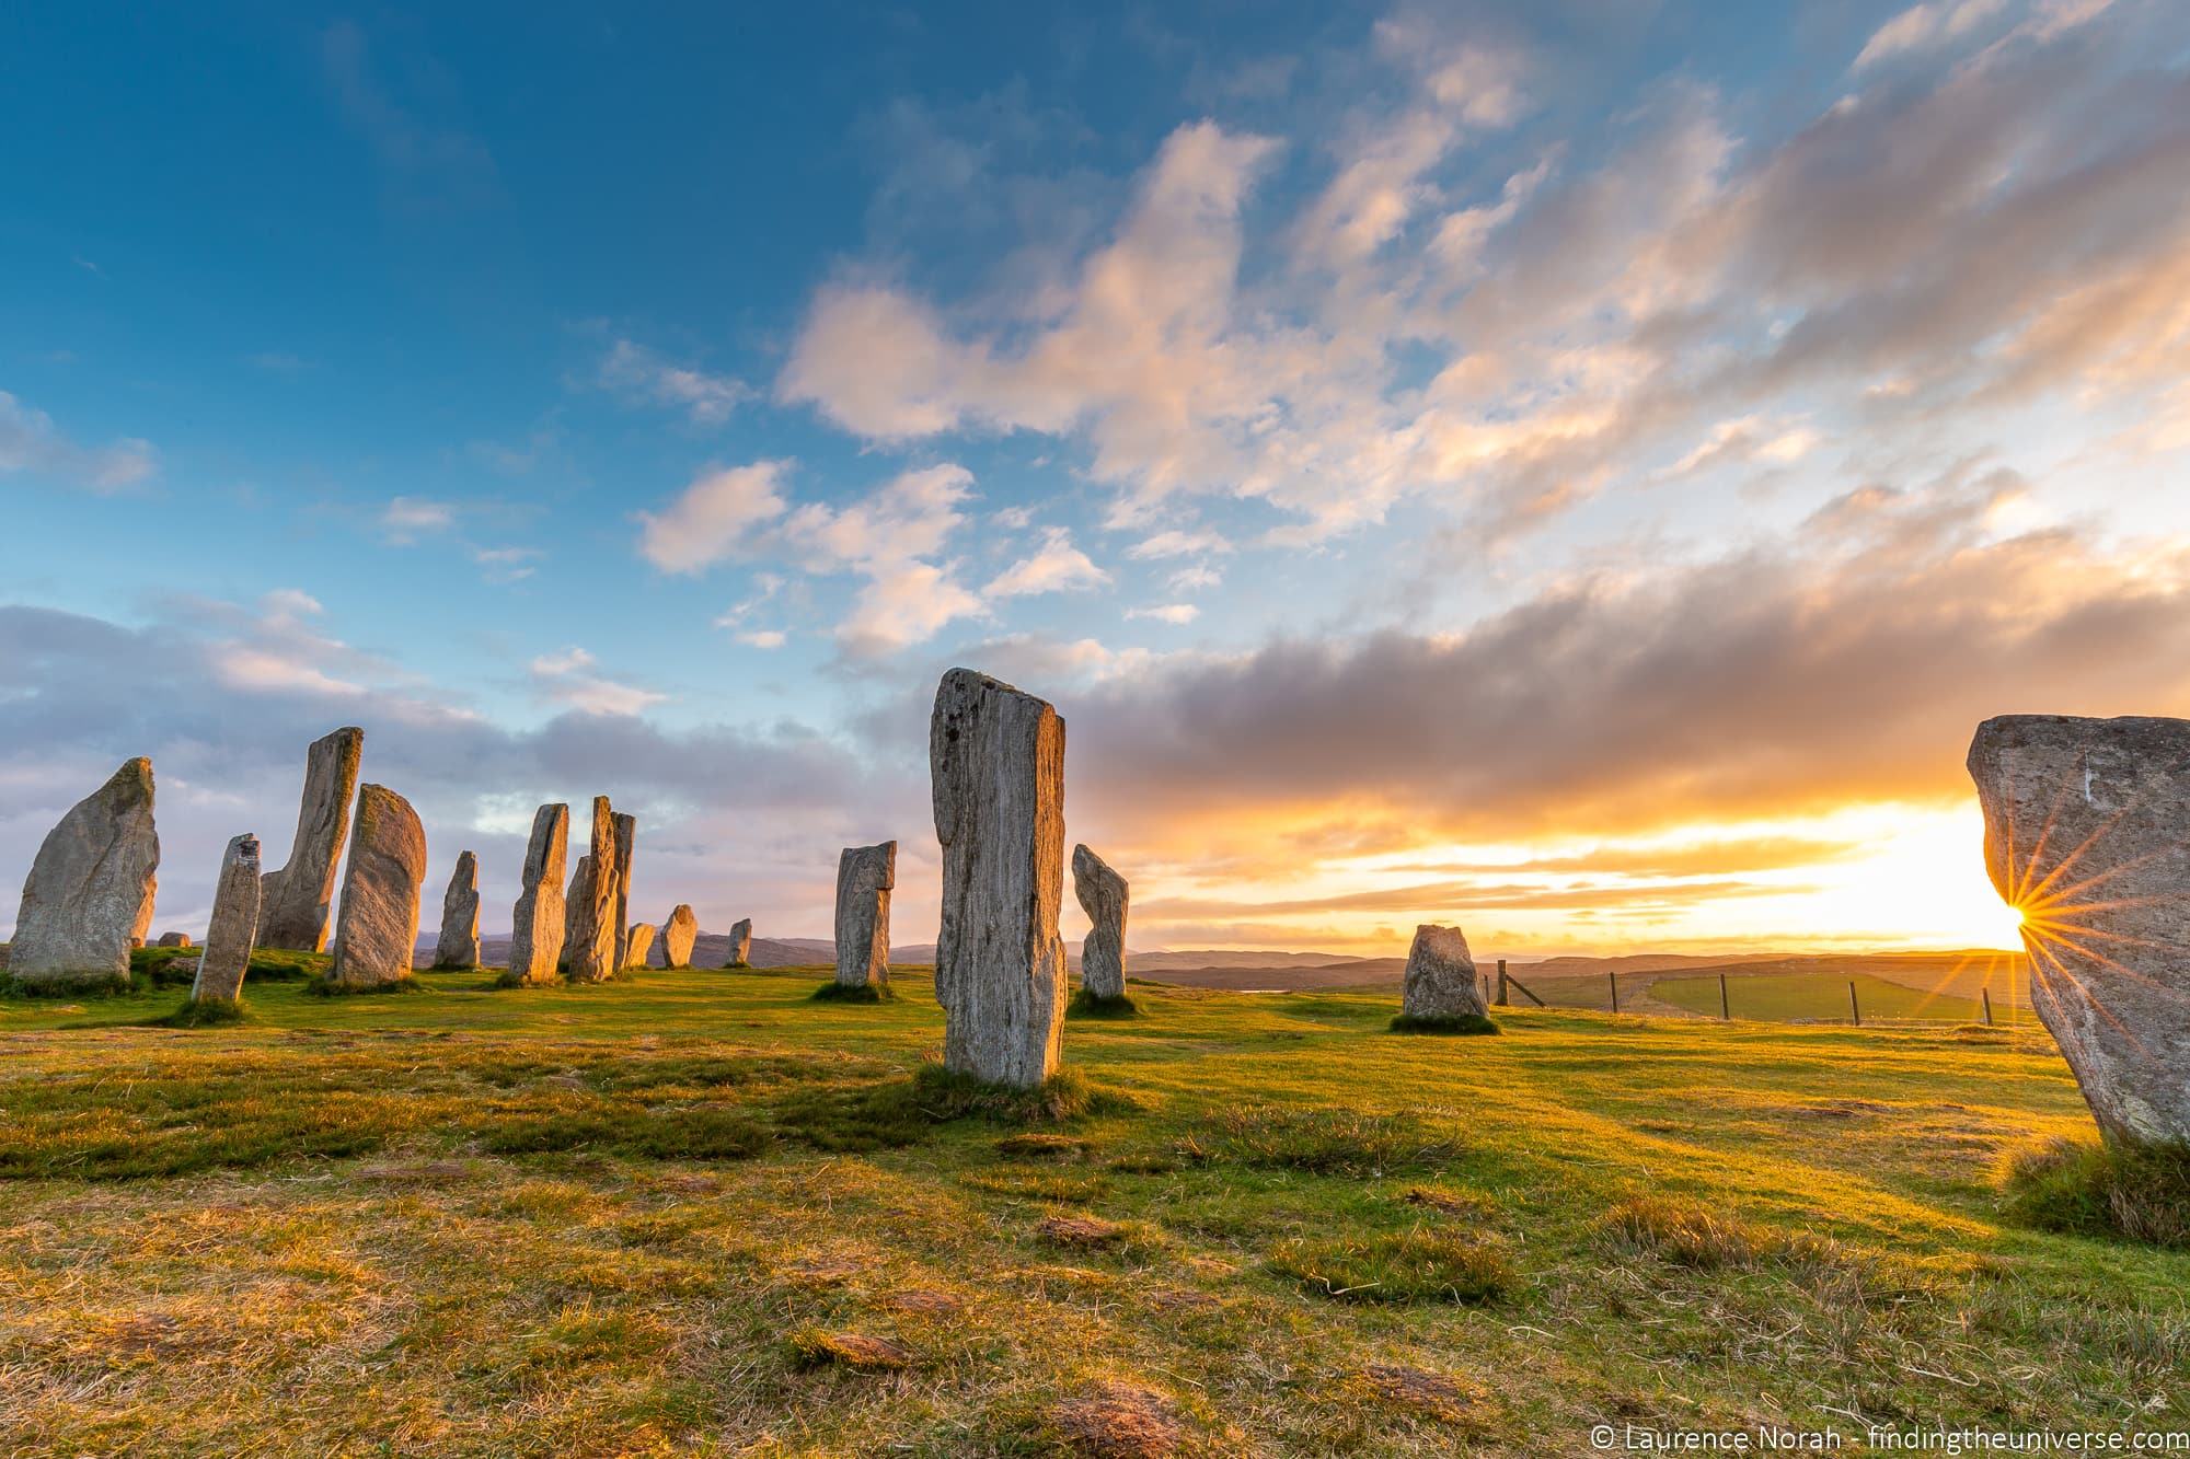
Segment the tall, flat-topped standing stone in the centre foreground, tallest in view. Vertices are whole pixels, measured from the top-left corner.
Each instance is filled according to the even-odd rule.
[[[944,1067],[1031,1089],[1064,1056],[1064,721],[953,668],[929,719],[929,786],[944,850]]]

